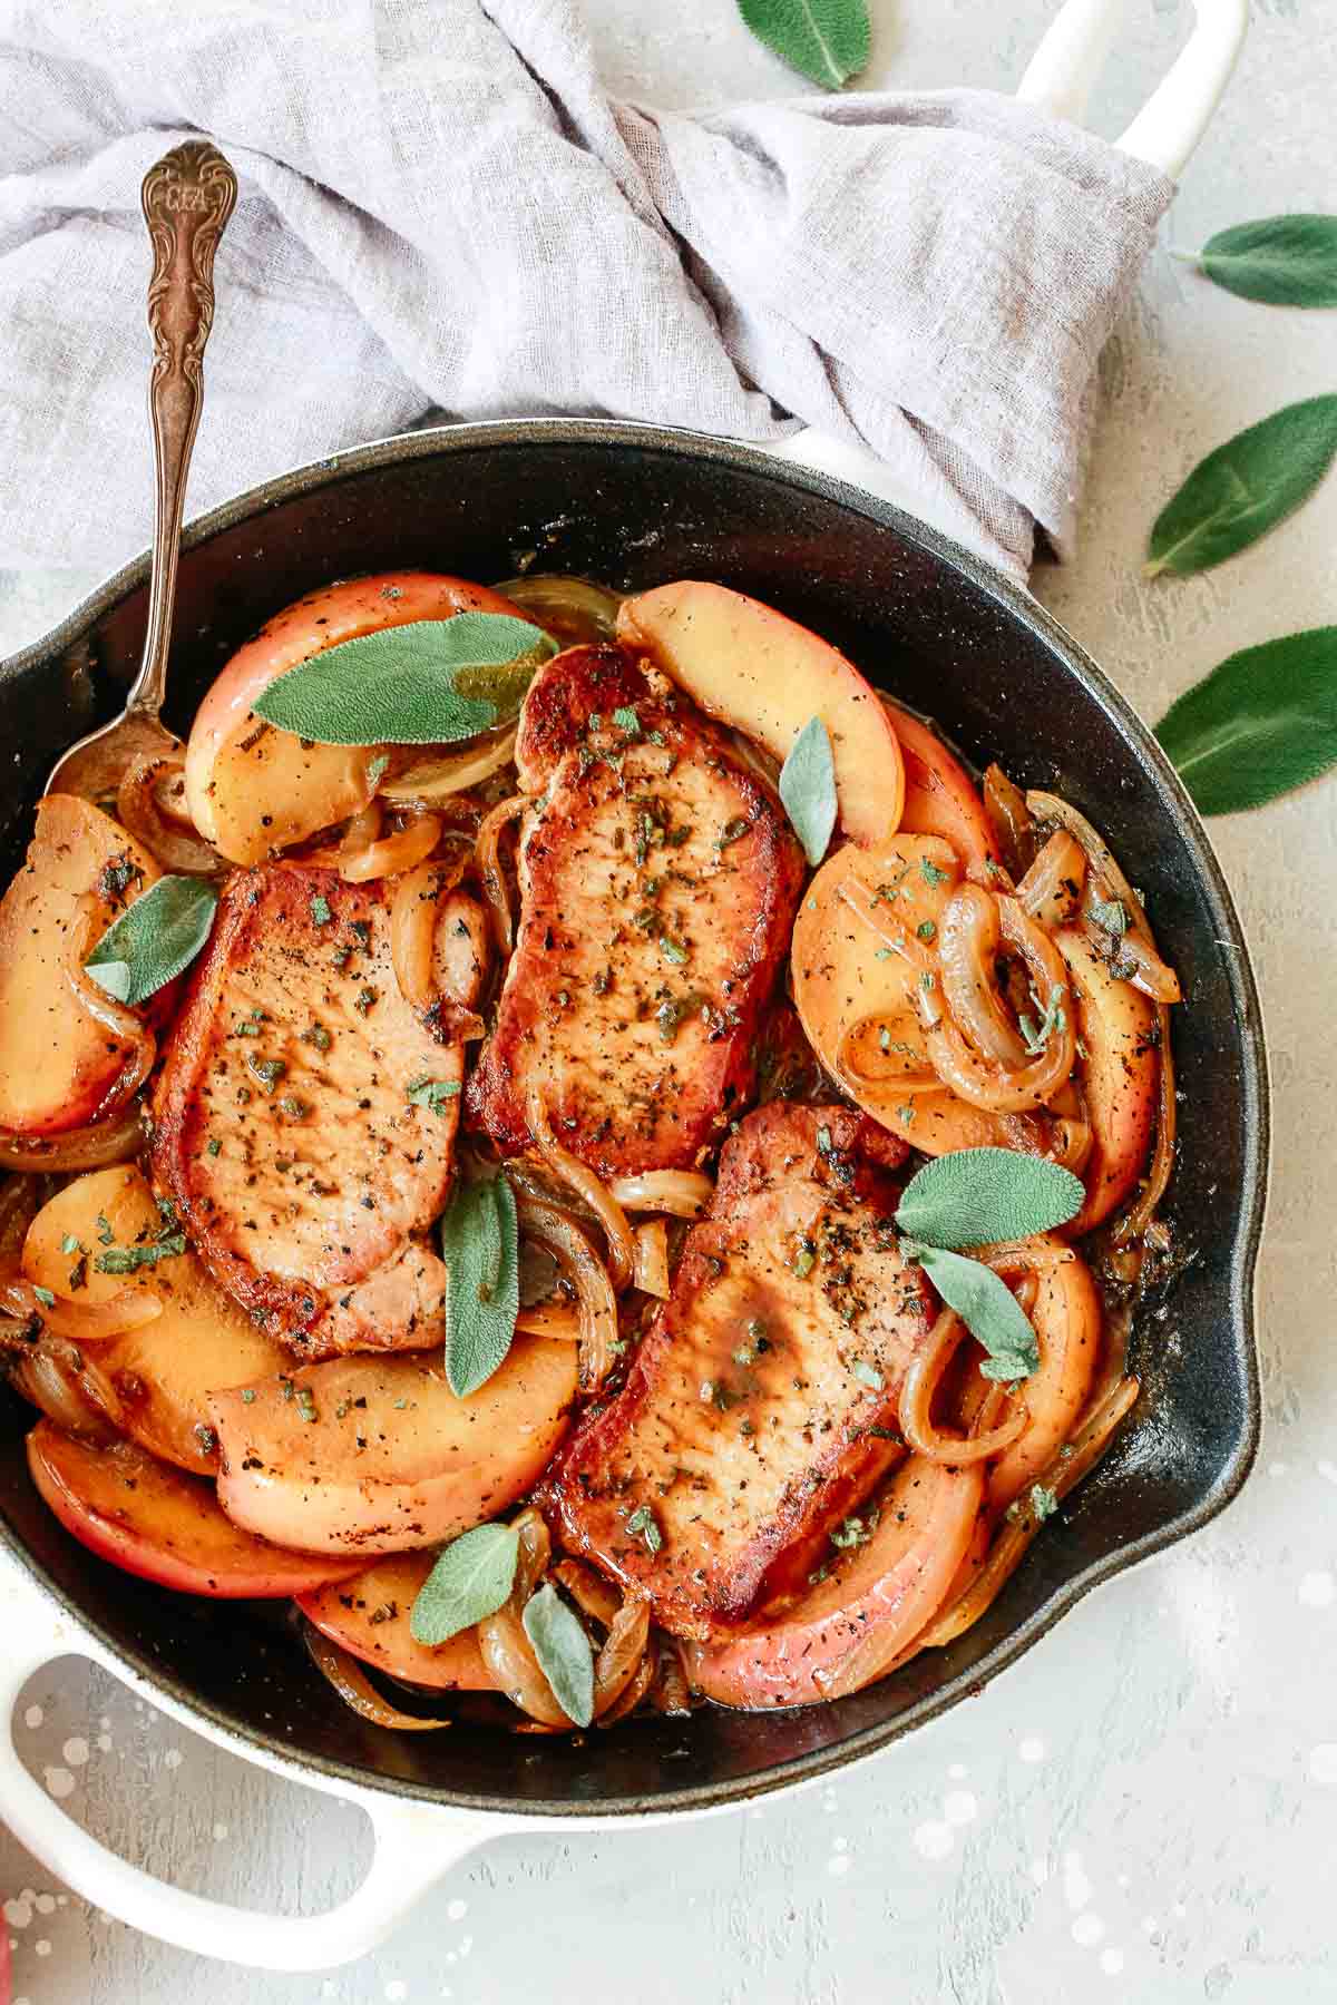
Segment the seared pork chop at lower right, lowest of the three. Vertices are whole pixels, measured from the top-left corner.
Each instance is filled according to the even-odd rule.
[[[742,1620],[900,1452],[900,1381],[932,1321],[892,1225],[902,1157],[844,1107],[750,1115],[623,1391],[547,1480],[561,1544],[680,1636]]]

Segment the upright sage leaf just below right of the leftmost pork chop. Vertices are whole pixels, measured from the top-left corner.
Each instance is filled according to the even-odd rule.
[[[505,1363],[519,1313],[519,1221],[505,1177],[461,1177],[441,1217],[445,1375],[467,1399]]]

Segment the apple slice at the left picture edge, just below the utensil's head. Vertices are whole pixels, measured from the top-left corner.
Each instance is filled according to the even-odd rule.
[[[28,858],[0,902],[2,1129],[60,1135],[96,1121],[136,1057],[68,970],[158,876],[148,850],[90,800],[38,802]]]

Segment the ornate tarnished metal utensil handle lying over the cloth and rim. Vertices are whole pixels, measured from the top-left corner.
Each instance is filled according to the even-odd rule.
[[[204,343],[214,319],[214,251],[237,203],[237,174],[208,140],[186,140],[144,174],[152,237],[148,411],[154,445],[154,561],[148,634],[130,710],[158,712],[176,595],[176,555],[190,449],[204,401]]]

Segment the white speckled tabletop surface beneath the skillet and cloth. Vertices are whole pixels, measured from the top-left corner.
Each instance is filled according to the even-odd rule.
[[[792,88],[730,0],[589,12],[627,94],[692,104]],[[708,30],[672,26],[682,12]],[[1006,86],[1050,12],[1046,0],[882,0],[870,80]],[[1139,0],[1133,12],[1102,130],[1165,64],[1187,8]],[[1335,92],[1337,0],[1257,0],[1173,241],[1331,209]],[[1337,315],[1251,307],[1167,259],[1147,273],[1106,355],[1080,553],[1036,581],[1147,716],[1231,650],[1337,618],[1337,479],[1211,577],[1139,579],[1147,523],[1183,471],[1279,403],[1333,389],[1335,357]],[[0,650],[90,581],[10,581]],[[1279,1137],[1267,1434],[1223,1520],[1088,1598],[982,1698],[834,1784],[680,1831],[499,1841],[389,1947],[331,1977],[261,1977],[134,1937],[66,1897],[0,1829],[16,2001],[1337,1999],[1337,780],[1213,832],[1265,988]],[[180,1885],[311,1913],[365,1865],[357,1813],[214,1752],[84,1664],[52,1666],[22,1704],[20,1744],[52,1794]]]

